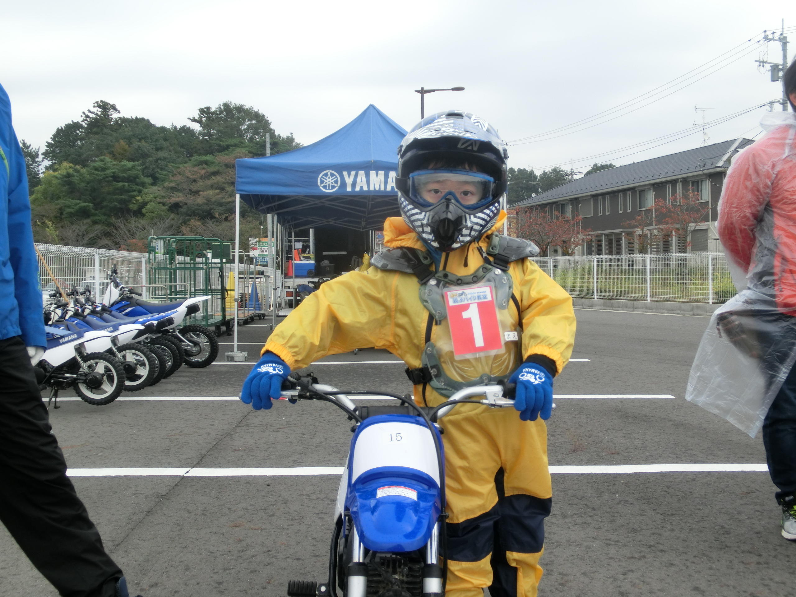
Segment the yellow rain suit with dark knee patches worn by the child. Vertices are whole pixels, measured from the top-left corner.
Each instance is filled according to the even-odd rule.
[[[486,237],[501,228],[503,220],[501,212],[494,228],[478,242],[485,252]],[[400,217],[384,223],[384,244],[425,250]],[[455,275],[471,274],[484,263],[472,245],[446,255],[444,269]],[[516,314],[516,306],[509,306],[517,323],[521,318],[522,357],[548,357],[560,373],[575,339],[572,298],[529,259],[511,263],[509,273],[521,310]],[[295,370],[329,354],[376,347],[415,369],[422,365],[428,320],[415,275],[370,267],[330,280],[305,298],[277,326],[263,353],[276,353]],[[446,400],[424,384],[414,387],[414,396],[418,404],[429,406]],[[521,421],[513,409],[462,404],[441,423],[451,537],[447,594],[480,597],[482,587],[516,582],[510,593],[533,597],[541,576],[542,523],[551,497],[544,421]],[[501,553],[496,550],[496,564],[492,546],[497,536]]]

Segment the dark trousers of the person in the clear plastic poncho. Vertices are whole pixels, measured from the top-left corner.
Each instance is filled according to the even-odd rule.
[[[796,367],[779,389],[763,421],[763,445],[777,501],[796,493]]]

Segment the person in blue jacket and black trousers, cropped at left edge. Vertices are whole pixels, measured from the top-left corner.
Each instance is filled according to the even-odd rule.
[[[25,158],[0,86],[0,521],[64,597],[127,597],[66,476],[33,365],[45,352]],[[4,592],[4,591],[0,591]]]

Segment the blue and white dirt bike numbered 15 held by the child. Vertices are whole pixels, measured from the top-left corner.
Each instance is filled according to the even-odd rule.
[[[513,384],[456,392],[436,408],[378,391],[341,391],[292,374],[283,399],[326,400],[354,420],[334,512],[326,582],[292,580],[291,597],[442,597],[445,591],[445,465],[436,421],[457,404],[513,407]],[[400,405],[359,406],[349,396]],[[476,400],[470,400],[477,398]]]

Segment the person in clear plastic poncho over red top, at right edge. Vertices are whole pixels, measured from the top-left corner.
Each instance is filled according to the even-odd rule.
[[[796,109],[796,62],[783,84]],[[732,162],[719,237],[739,293],[713,314],[686,398],[752,437],[763,427],[782,536],[796,540],[796,114],[770,112]]]

